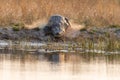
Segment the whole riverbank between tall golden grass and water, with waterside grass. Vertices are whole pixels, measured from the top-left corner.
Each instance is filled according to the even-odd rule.
[[[49,52],[94,52],[119,53],[120,28],[89,28],[79,31],[75,38],[55,39],[44,36],[42,29],[0,28],[0,48],[6,50],[20,50],[38,53]]]

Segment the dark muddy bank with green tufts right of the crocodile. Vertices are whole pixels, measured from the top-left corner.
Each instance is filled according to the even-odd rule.
[[[85,31],[80,31],[79,37],[95,40],[95,39],[115,39],[120,40],[120,28],[104,27],[104,28],[89,28]]]

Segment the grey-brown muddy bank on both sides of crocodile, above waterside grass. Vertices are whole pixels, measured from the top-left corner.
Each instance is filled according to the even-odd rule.
[[[120,28],[115,27],[105,27],[105,28],[89,28],[80,30],[77,32],[77,36],[74,38],[66,38],[62,37],[57,39],[57,41],[61,40],[79,40],[79,39],[98,39],[98,38],[115,38],[120,40]],[[52,36],[45,36],[43,33],[43,29],[21,29],[21,30],[13,30],[12,28],[0,28],[0,40],[30,40],[30,41],[54,41],[56,40]]]

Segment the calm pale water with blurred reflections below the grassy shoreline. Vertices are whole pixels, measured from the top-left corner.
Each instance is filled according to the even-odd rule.
[[[119,80],[120,55],[94,53],[0,54],[0,80]]]

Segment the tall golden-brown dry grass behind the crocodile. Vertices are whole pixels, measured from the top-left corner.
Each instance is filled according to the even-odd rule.
[[[0,0],[0,25],[31,24],[61,14],[87,26],[120,25],[119,0]]]

